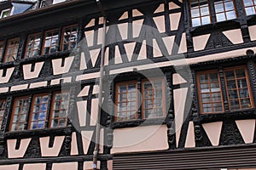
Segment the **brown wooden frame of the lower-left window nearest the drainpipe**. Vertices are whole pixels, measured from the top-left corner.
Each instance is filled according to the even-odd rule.
[[[55,95],[56,94],[63,94],[63,93],[68,93],[68,105],[67,105],[67,116],[66,117],[61,117],[60,118],[60,116],[57,118],[58,119],[58,126],[57,127],[52,127],[51,126],[51,123],[52,123],[52,121],[55,119],[55,118],[53,118],[53,112],[54,112],[54,105],[55,105]],[[69,111],[69,103],[70,103],[70,92],[69,91],[63,91],[63,92],[61,92],[61,91],[57,91],[57,92],[55,92],[53,95],[52,95],[53,97],[52,97],[52,99],[51,99],[51,108],[50,108],[50,113],[49,113],[49,127],[50,128],[60,128],[59,127],[59,120],[60,119],[66,119],[66,122],[65,122],[65,126],[64,127],[67,127],[67,121],[68,121],[68,111]],[[62,101],[62,100],[61,100]]]

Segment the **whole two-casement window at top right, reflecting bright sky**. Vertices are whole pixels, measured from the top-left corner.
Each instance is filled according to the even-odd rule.
[[[211,5],[214,6],[216,20],[212,20]],[[212,23],[212,21],[220,22],[236,19],[236,9],[233,0],[191,0],[190,14],[192,26],[203,26]]]

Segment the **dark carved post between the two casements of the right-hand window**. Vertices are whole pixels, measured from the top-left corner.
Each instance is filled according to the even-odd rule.
[[[221,93],[222,93],[223,101],[224,101],[224,111],[230,111],[228,94],[227,94],[227,90],[225,88],[224,71],[223,71],[222,67],[218,68],[218,75],[219,75],[219,79],[220,79]]]

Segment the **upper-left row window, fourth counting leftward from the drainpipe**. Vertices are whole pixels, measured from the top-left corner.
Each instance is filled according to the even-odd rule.
[[[20,38],[10,39],[7,42],[7,48],[5,50],[5,56],[3,62],[9,62],[16,59],[20,44]]]

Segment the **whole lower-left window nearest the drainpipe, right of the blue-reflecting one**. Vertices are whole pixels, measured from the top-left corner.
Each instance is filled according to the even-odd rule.
[[[50,127],[66,127],[69,104],[69,93],[57,92],[53,96],[50,114]]]

